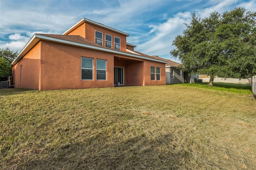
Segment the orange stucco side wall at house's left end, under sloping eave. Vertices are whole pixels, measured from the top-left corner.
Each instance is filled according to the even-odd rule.
[[[37,43],[33,49],[31,49],[16,65],[14,65],[14,88],[39,89],[40,46],[41,43]],[[20,67],[22,67],[21,80]]]

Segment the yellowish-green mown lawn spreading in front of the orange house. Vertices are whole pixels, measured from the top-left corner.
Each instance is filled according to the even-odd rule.
[[[192,85],[0,89],[0,169],[256,169],[252,93]]]

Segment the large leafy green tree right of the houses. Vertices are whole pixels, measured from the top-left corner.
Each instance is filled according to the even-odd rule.
[[[170,51],[188,73],[248,78],[256,75],[256,12],[245,8],[212,12],[208,18],[192,14],[182,35],[176,36]]]

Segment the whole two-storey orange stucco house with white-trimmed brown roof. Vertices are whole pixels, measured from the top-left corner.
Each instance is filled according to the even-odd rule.
[[[164,59],[134,51],[129,34],[82,18],[62,35],[34,34],[12,62],[14,88],[165,85]]]

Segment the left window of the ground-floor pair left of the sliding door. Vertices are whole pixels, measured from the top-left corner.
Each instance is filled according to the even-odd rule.
[[[92,80],[93,78],[93,59],[82,57],[81,61],[81,79],[82,80]]]

